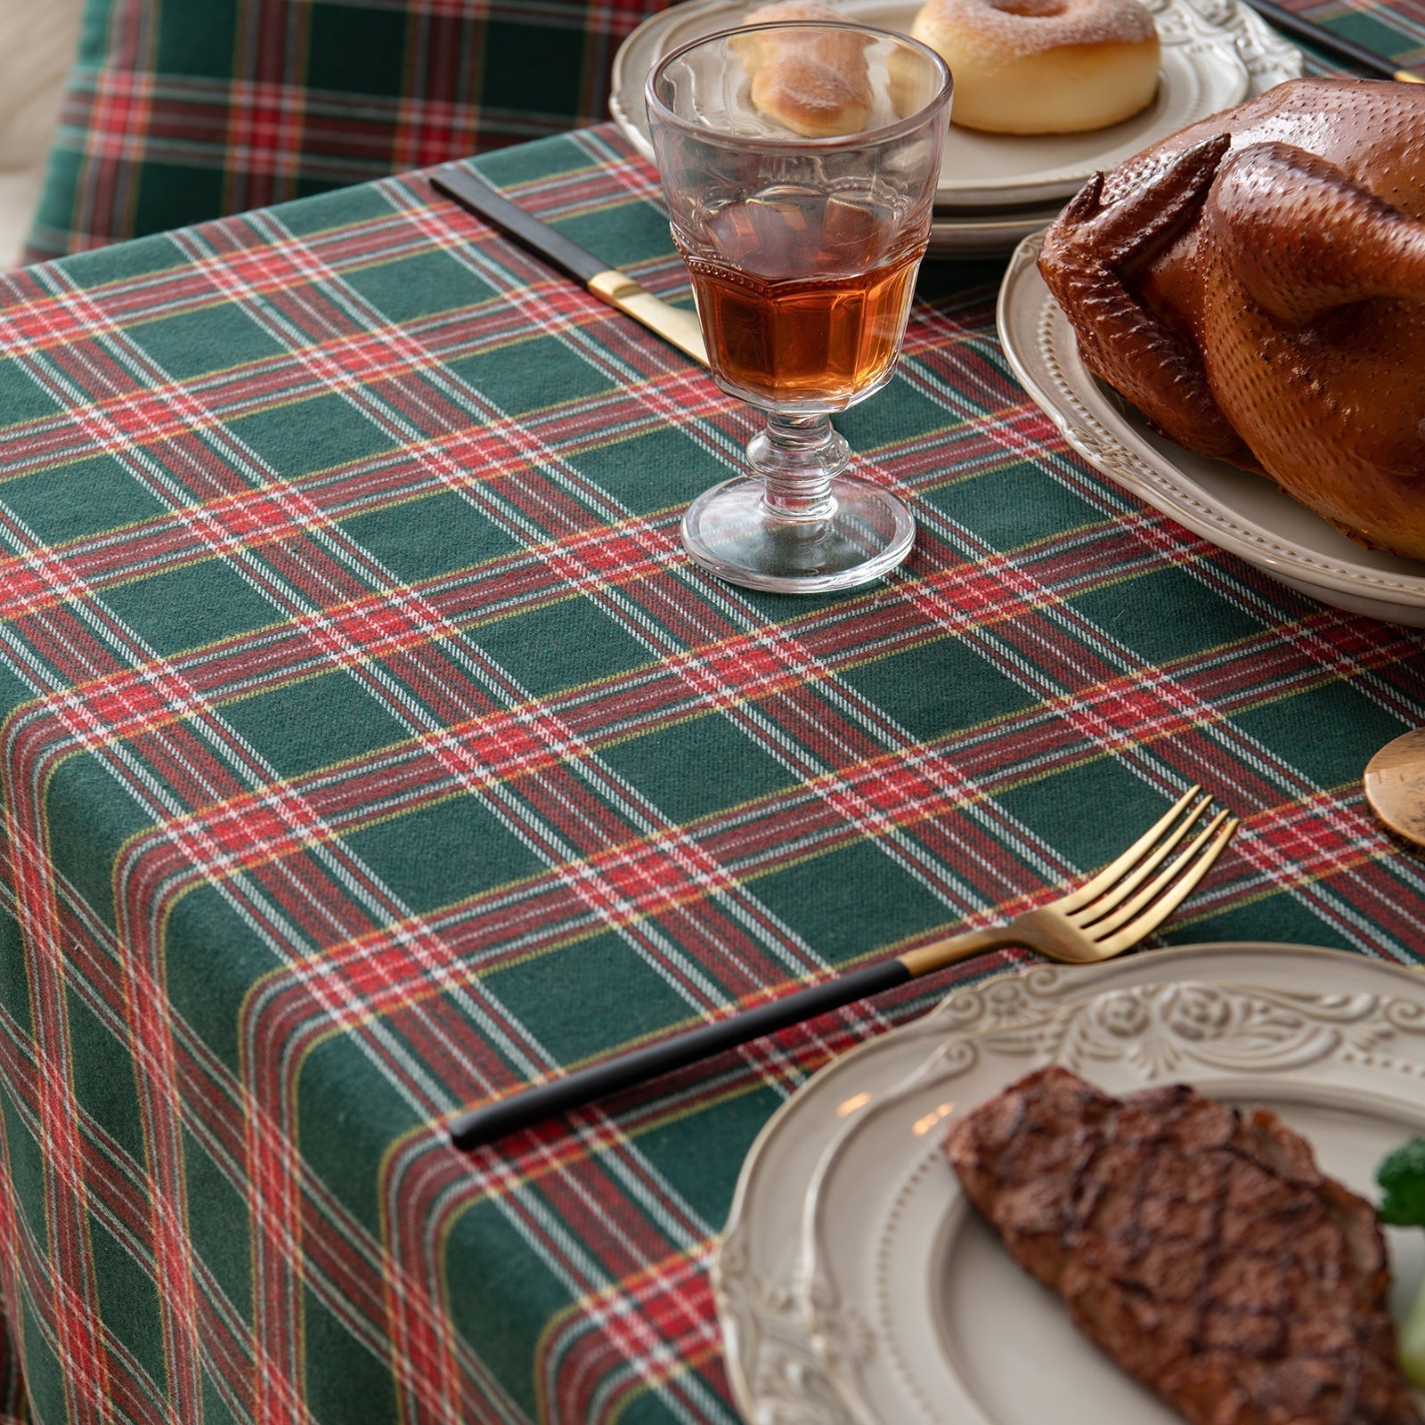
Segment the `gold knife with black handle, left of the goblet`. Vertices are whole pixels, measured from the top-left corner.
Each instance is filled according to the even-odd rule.
[[[463,168],[442,168],[430,175],[430,184],[462,208],[467,208],[512,237],[556,271],[580,282],[594,296],[610,306],[617,306],[620,312],[641,322],[648,331],[657,332],[694,361],[704,366],[708,363],[697,312],[684,311],[661,296],[654,296],[627,272],[608,266],[593,252],[571,242],[563,232],[556,232],[547,222],[510,202]]]

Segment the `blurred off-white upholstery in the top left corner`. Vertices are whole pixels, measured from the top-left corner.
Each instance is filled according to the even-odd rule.
[[[0,0],[0,271],[20,261],[84,0]]]

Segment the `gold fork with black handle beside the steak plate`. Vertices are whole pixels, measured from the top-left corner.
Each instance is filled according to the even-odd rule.
[[[1077,891],[1025,911],[1007,925],[933,940],[563,1079],[516,1090],[456,1114],[450,1120],[450,1139],[460,1149],[479,1147],[556,1113],[905,985],[985,950],[1019,945],[1069,965],[1093,965],[1121,955],[1151,935],[1191,895],[1237,831],[1237,818],[1226,811],[1203,821],[1211,797],[1201,797],[1200,792],[1200,787],[1190,787],[1117,861]]]

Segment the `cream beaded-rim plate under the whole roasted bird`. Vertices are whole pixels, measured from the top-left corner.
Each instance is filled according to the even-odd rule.
[[[1325,604],[1425,626],[1425,564],[1361,549],[1271,480],[1193,455],[1150,430],[1079,359],[1069,319],[1025,238],[999,292],[999,341],[1025,389],[1110,480],[1194,534]]]

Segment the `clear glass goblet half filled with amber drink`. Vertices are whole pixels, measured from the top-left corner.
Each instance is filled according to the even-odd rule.
[[[861,24],[744,26],[648,76],[648,124],[712,378],[767,412],[752,475],[704,492],[683,543],[734,584],[869,583],[911,551],[905,503],[845,472],[829,416],[895,369],[949,124],[933,50]]]

